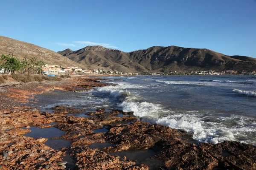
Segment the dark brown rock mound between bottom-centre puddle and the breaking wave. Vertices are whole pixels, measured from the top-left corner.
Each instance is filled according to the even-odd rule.
[[[178,130],[163,125],[135,122],[131,125],[113,127],[106,134],[106,141],[116,144],[105,151],[113,153],[121,150],[144,150],[154,147],[157,142],[176,142],[180,139]]]

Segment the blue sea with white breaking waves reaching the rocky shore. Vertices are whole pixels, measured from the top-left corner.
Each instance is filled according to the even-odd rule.
[[[134,111],[141,121],[186,130],[198,142],[256,145],[256,76],[101,78],[116,85],[76,92],[79,98],[59,104]]]

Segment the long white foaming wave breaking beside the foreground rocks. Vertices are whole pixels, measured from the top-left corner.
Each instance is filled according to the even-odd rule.
[[[145,122],[186,130],[187,132],[193,133],[193,139],[199,142],[217,144],[224,141],[239,140],[244,143],[252,143],[251,141],[247,141],[247,139],[237,139],[238,134],[249,134],[254,128],[253,126],[245,125],[245,121],[240,120],[241,117],[239,117],[239,120],[233,127],[226,127],[223,123],[216,123],[214,121],[207,122],[204,121],[205,116],[202,116],[207,113],[207,111],[166,110],[163,105],[146,102],[145,99],[139,95],[128,91],[127,88],[131,88],[131,86],[133,86],[133,88],[137,87],[137,85],[120,83],[117,86],[97,88],[97,92],[117,99],[117,107],[122,108],[125,112],[133,111],[135,116],[140,117]],[[122,90],[125,88],[126,90]],[[256,93],[254,93],[254,95],[256,96]],[[212,119],[215,119],[215,117]],[[226,122],[234,121],[233,117],[220,117],[220,119],[227,119]]]

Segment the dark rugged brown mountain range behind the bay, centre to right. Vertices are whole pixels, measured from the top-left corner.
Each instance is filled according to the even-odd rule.
[[[256,59],[228,56],[209,49],[177,46],[153,46],[125,53],[102,46],[87,46],[77,51],[66,49],[59,54],[91,68],[110,68],[124,72],[256,70]]]

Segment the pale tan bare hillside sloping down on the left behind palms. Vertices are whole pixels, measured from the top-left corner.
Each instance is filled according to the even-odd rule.
[[[24,57],[26,57],[26,59],[36,57],[39,60],[43,60],[46,64],[82,67],[79,63],[54,51],[27,42],[0,36],[0,55],[9,54],[10,52],[12,52],[13,56],[18,59],[23,59]]]

